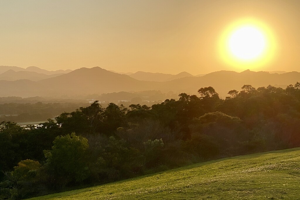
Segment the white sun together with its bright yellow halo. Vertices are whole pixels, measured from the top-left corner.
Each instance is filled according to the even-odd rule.
[[[229,25],[220,37],[222,62],[239,70],[258,70],[269,63],[276,50],[274,34],[262,22],[241,19]]]

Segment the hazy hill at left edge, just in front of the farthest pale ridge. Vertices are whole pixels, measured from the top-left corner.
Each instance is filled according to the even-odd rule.
[[[0,74],[0,80],[7,80],[7,81],[16,81],[20,79],[28,79],[31,81],[39,81],[42,79],[47,79],[55,76],[60,76],[63,73],[59,74],[52,74],[52,75],[46,75],[43,73],[36,73],[36,72],[31,72],[31,71],[13,71],[13,70],[8,70],[4,73]]]

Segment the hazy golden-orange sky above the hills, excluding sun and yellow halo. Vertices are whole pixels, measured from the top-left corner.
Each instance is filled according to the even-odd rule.
[[[261,70],[299,71],[299,10],[299,0],[1,0],[0,65],[238,71],[220,61],[217,42],[230,23],[251,17],[278,41],[273,63]]]

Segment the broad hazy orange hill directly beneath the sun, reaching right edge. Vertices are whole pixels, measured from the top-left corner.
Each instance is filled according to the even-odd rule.
[[[202,77],[184,77],[181,79],[164,82],[160,88],[161,91],[171,90],[177,92],[191,92],[193,94],[201,87],[212,86],[221,97],[228,96],[229,90],[241,90],[245,84],[253,87],[262,87],[268,85],[287,86],[300,81],[299,72],[289,72],[283,74],[268,72],[253,72],[245,70],[241,73],[234,71],[217,71],[206,74]],[[157,89],[157,88],[156,88]]]

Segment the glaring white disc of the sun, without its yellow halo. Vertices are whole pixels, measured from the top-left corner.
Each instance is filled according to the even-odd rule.
[[[250,61],[266,50],[266,38],[253,25],[244,25],[235,30],[228,40],[229,51],[237,58]]]

